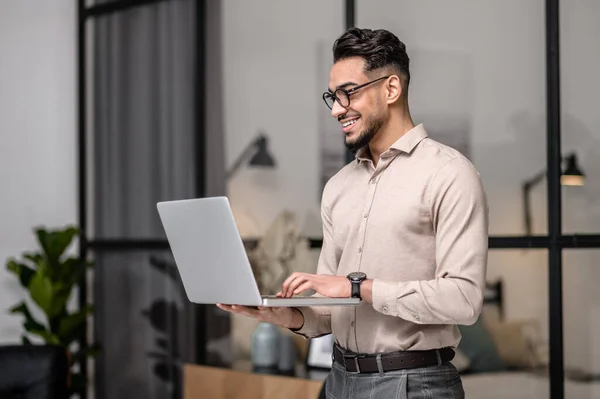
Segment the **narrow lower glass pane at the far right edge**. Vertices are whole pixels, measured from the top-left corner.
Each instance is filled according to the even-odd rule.
[[[565,398],[600,397],[599,256],[600,249],[564,251]]]

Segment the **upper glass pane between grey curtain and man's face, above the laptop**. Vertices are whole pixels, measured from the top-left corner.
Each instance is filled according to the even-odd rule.
[[[343,1],[231,0],[222,15],[227,194],[240,231],[259,237],[289,210],[320,237],[321,176],[344,165],[343,137],[327,130],[333,118],[321,99]],[[262,133],[275,168],[253,167],[251,152],[234,169]]]

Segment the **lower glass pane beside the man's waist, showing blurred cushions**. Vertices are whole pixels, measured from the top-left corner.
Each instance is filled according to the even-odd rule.
[[[549,398],[547,264],[546,250],[490,251],[489,303],[478,323],[459,327],[467,398]]]

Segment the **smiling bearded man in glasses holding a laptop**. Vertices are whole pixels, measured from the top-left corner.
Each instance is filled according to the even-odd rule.
[[[323,99],[356,152],[322,197],[317,274],[277,294],[360,296],[357,307],[222,309],[305,337],[332,333],[328,398],[462,398],[450,363],[457,325],[481,312],[488,210],[479,175],[412,121],[406,48],[385,30],[353,28],[333,46]],[[449,77],[451,79],[451,77]]]

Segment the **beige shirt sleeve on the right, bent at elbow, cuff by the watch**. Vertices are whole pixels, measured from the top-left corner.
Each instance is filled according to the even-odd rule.
[[[473,324],[483,306],[488,205],[479,174],[465,158],[441,166],[428,191],[436,245],[435,278],[373,281],[373,307],[418,324]]]

